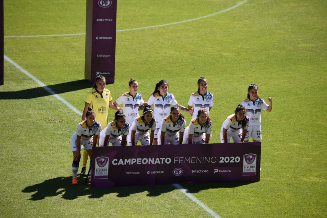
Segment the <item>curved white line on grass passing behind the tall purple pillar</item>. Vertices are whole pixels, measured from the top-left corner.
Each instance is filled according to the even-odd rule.
[[[174,24],[181,24],[181,23],[186,23],[186,22],[190,22],[190,21],[195,21],[195,20],[199,20],[199,19],[203,19],[206,17],[210,17],[210,16],[214,16],[217,14],[221,14],[224,13],[228,10],[237,8],[240,5],[243,5],[245,2],[247,2],[248,0],[243,0],[242,2],[228,8],[228,9],[224,9],[221,11],[218,11],[216,13],[213,14],[208,14],[202,17],[197,17],[197,18],[193,18],[190,20],[184,20],[184,21],[178,21],[178,22],[174,22],[174,23],[169,23],[169,24],[160,24],[160,25],[154,25],[154,26],[148,26],[148,27],[138,27],[138,28],[131,28],[131,29],[118,29],[116,30],[116,32],[123,32],[123,31],[130,31],[130,30],[138,30],[138,29],[148,29],[148,28],[154,28],[154,27],[164,27],[164,26],[169,26],[169,25],[174,25]],[[35,36],[4,36],[4,38],[14,38],[14,37],[46,37],[46,36],[76,36],[76,35],[85,35],[85,33],[75,33],[75,34],[56,34],[56,35],[35,35]]]

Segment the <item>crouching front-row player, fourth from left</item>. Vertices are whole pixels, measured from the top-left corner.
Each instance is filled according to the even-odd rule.
[[[162,145],[182,144],[184,138],[186,121],[184,116],[180,113],[177,106],[170,108],[170,115],[163,118],[161,128],[158,133]]]

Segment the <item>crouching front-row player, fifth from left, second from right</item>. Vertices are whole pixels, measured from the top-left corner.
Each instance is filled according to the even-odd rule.
[[[209,143],[212,133],[212,122],[205,108],[198,110],[198,116],[190,122],[184,132],[184,144]]]

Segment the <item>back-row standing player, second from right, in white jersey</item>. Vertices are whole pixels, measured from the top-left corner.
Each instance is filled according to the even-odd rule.
[[[207,91],[208,81],[206,78],[201,77],[198,79],[198,91],[192,93],[190,100],[188,101],[188,109],[194,108],[192,119],[196,118],[198,115],[198,110],[200,108],[207,109],[210,112],[212,106],[214,106],[214,95]],[[208,114],[209,115],[209,114]]]

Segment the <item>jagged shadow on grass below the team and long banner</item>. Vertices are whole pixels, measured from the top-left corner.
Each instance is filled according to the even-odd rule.
[[[78,185],[72,185],[72,177],[57,177],[45,180],[42,183],[26,187],[22,190],[24,193],[35,192],[29,200],[38,201],[45,197],[52,197],[62,194],[62,198],[73,200],[79,196],[90,195],[89,198],[101,198],[105,194],[117,193],[117,197],[128,197],[131,194],[148,192],[146,196],[159,196],[162,193],[168,193],[176,190],[171,185],[151,185],[151,186],[120,186],[111,188],[90,188],[85,184],[85,177],[77,177]],[[232,182],[232,183],[197,183],[181,184],[181,186],[190,193],[197,193],[207,189],[234,188],[248,185],[253,182]]]

